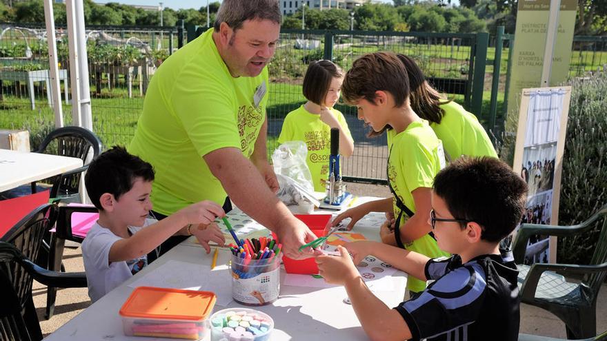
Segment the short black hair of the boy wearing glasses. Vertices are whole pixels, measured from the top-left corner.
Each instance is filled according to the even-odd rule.
[[[525,211],[527,184],[498,158],[462,156],[437,174],[433,187],[452,216],[481,225],[488,242],[508,236]]]

